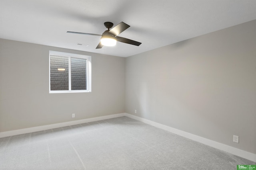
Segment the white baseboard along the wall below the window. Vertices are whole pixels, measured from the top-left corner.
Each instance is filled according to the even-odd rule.
[[[58,127],[77,125],[77,124],[81,124],[81,123],[88,123],[88,122],[92,122],[92,121],[111,119],[111,118],[121,117],[121,116],[124,116],[124,113],[119,113],[119,114],[114,114],[114,115],[106,115],[106,116],[100,116],[100,117],[93,117],[93,118],[89,118],[89,119],[82,119],[82,120],[76,120],[76,121],[68,121],[68,122],[56,123],[56,124],[51,124],[51,125],[30,127],[30,128],[18,129],[18,130],[14,130],[14,131],[0,132],[0,138],[13,136],[13,135],[20,135],[20,134],[24,134],[24,133],[44,131],[44,130],[54,129],[54,128],[58,128]]]

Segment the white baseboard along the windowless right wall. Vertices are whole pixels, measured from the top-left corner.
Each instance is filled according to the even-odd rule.
[[[208,145],[210,147],[214,147],[216,149],[220,149],[220,150],[223,150],[225,152],[234,154],[236,156],[240,156],[242,158],[246,158],[248,160],[256,162],[256,154],[253,154],[251,152],[247,152],[247,151],[244,151],[244,150],[241,150],[241,149],[230,147],[228,145],[224,145],[222,143],[218,143],[218,142],[212,141],[210,139],[206,139],[206,138],[194,135],[192,133],[188,133],[188,132],[185,132],[185,131],[181,131],[179,129],[175,129],[175,128],[172,128],[172,127],[169,127],[169,126],[166,126],[166,125],[162,125],[160,123],[156,123],[154,121],[150,121],[148,119],[144,119],[144,118],[141,118],[141,117],[138,117],[138,116],[135,116],[135,115],[131,115],[131,114],[128,114],[128,113],[124,113],[124,115],[127,116],[127,117],[130,117],[132,119],[141,121],[143,123],[147,123],[147,124],[152,125],[154,127],[158,127],[160,129],[164,129],[166,131],[175,133],[175,134],[180,135],[182,137],[192,139],[193,141],[203,143],[204,145]]]

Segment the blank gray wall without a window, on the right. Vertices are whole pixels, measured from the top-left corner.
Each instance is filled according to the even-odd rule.
[[[256,154],[256,20],[126,58],[125,100],[126,113]]]

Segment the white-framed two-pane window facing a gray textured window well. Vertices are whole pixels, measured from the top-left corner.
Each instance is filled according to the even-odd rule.
[[[91,92],[91,56],[49,51],[50,93]]]

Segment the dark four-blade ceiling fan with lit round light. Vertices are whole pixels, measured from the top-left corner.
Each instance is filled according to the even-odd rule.
[[[128,25],[124,22],[120,22],[115,27],[113,27],[114,24],[112,22],[105,22],[104,25],[108,30],[104,31],[104,33],[102,33],[102,35],[92,34],[92,33],[79,33],[79,32],[72,32],[72,31],[67,31],[67,33],[101,36],[100,43],[98,44],[96,49],[101,49],[104,45],[105,46],[114,46],[114,45],[116,45],[116,41],[131,44],[131,45],[136,45],[136,46],[139,46],[141,44],[138,41],[134,41],[134,40],[131,40],[131,39],[127,39],[127,38],[117,36],[120,33],[122,33],[124,30],[129,28],[130,25]],[[110,28],[112,28],[112,29],[110,29]]]

